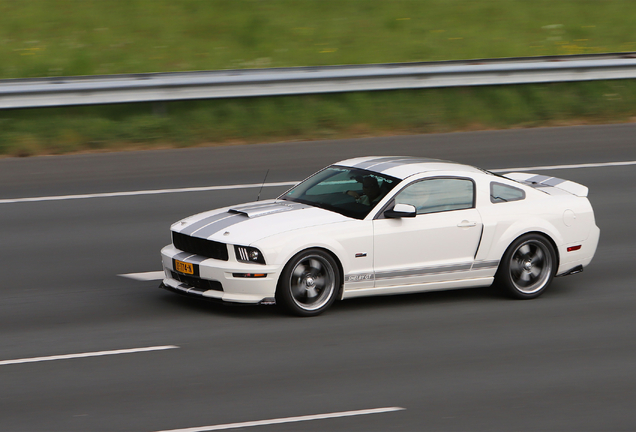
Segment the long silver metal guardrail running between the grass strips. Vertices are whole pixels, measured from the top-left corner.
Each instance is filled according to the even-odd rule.
[[[0,80],[0,109],[636,78],[636,53]]]

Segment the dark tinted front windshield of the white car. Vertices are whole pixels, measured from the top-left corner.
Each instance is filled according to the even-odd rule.
[[[364,219],[399,182],[395,177],[333,165],[299,183],[279,199]]]

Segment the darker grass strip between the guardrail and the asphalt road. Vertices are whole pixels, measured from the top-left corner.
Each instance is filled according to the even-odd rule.
[[[0,154],[626,122],[636,81],[358,92],[2,112]]]

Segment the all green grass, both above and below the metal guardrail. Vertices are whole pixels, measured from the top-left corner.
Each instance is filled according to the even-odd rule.
[[[634,0],[0,0],[0,79],[636,51],[634,29]],[[0,154],[622,122],[635,107],[634,81],[612,81],[2,110]]]

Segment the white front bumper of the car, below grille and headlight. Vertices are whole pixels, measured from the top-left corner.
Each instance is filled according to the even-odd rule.
[[[233,254],[230,254],[228,261],[205,258],[199,255],[179,257],[180,261],[190,262],[198,266],[198,277],[192,277],[183,275],[174,268],[173,258],[178,254],[182,254],[182,251],[172,245],[161,250],[161,260],[166,275],[160,285],[161,288],[179,294],[232,303],[271,304],[274,302],[281,270],[278,266],[241,263],[236,261]],[[266,276],[259,278],[235,276],[236,274],[254,273]]]

